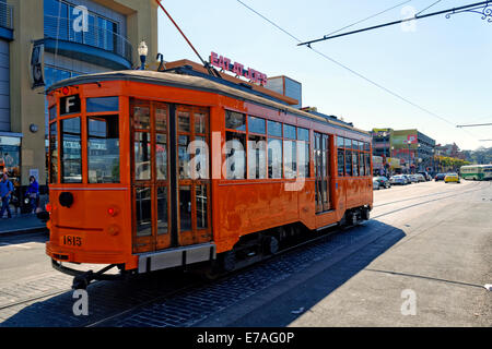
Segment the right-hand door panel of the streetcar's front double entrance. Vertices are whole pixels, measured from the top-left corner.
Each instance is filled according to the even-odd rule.
[[[209,109],[177,105],[177,244],[212,240],[210,227]]]

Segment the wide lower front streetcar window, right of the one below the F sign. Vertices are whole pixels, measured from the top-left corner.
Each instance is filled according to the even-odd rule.
[[[87,118],[89,183],[119,183],[118,116]]]

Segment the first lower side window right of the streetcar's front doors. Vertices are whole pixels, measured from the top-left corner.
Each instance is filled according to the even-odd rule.
[[[225,166],[226,179],[245,179],[246,178],[246,136],[242,133],[225,133]]]

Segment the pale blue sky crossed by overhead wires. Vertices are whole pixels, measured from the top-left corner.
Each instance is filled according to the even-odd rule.
[[[241,1],[302,41],[396,5],[347,31],[401,20],[436,2]],[[423,14],[479,1],[442,0]],[[492,142],[481,142],[492,140],[492,127],[456,128],[492,122],[492,23],[480,14],[457,13],[449,19],[436,15],[406,26],[313,44],[327,59],[297,46],[295,38],[238,0],[162,3],[203,59],[208,60],[214,51],[268,76],[292,77],[302,83],[303,107],[317,107],[318,111],[343,118],[363,130],[417,128],[437,144],[455,142],[461,149],[492,146]],[[164,12],[159,11],[159,51],[164,60],[199,62]]]

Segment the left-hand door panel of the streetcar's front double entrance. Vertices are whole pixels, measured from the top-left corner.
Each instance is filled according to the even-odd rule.
[[[132,100],[132,251],[169,248],[169,105]]]

